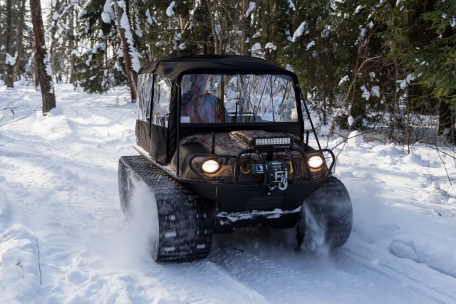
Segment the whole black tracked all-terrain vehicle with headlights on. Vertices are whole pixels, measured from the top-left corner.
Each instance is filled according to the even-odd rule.
[[[155,261],[205,258],[213,234],[249,226],[296,226],[301,246],[315,230],[306,218],[329,248],[351,234],[335,156],[321,149],[296,75],[279,65],[248,56],[145,65],[135,131],[139,154],[119,160],[120,204],[151,211]],[[140,187],[148,195],[135,196]]]

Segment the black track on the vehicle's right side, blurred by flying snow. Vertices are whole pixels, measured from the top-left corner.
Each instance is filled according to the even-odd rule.
[[[329,177],[304,200],[301,221],[296,225],[299,246],[330,250],[343,246],[351,234],[353,208],[350,195],[336,177]]]

